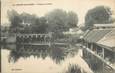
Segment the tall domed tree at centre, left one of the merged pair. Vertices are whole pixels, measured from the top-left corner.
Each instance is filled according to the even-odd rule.
[[[67,13],[61,9],[53,10],[46,14],[48,20],[49,31],[60,32],[65,30]]]

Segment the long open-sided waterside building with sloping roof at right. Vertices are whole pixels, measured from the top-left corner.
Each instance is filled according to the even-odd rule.
[[[94,25],[92,30],[87,30],[83,35],[82,47],[87,61],[97,61],[94,62],[97,64],[102,62],[102,68],[108,66],[111,68],[109,73],[115,72],[115,24]],[[103,70],[102,73],[107,72]]]

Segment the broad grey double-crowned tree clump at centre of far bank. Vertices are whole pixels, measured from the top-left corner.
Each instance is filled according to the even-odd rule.
[[[69,28],[75,27],[78,22],[78,17],[74,12],[66,12],[61,9],[55,9],[46,14],[50,31],[62,32]]]

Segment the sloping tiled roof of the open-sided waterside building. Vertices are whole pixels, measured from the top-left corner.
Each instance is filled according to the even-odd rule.
[[[93,29],[84,35],[84,40],[115,52],[115,29]]]

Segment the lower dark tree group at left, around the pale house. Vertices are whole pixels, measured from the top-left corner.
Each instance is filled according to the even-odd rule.
[[[11,22],[10,30],[20,33],[46,33],[46,19],[37,17],[28,13],[18,14],[16,11],[8,11],[9,21]]]

